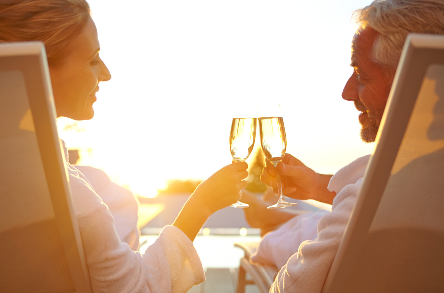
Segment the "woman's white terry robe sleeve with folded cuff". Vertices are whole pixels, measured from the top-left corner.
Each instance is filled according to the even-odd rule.
[[[205,281],[200,258],[185,233],[168,225],[143,255],[133,251],[120,241],[109,208],[87,178],[68,161],[66,166],[94,293],[181,293]]]

